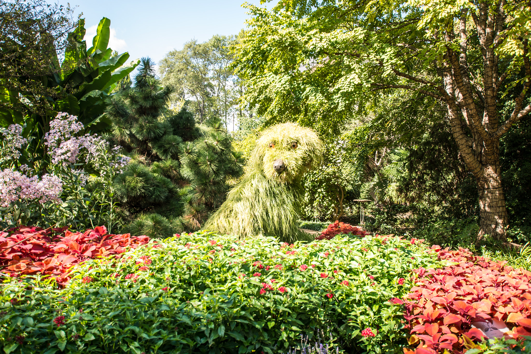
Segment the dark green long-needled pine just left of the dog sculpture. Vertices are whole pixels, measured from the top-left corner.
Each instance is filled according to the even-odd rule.
[[[142,58],[134,87],[110,99],[107,115],[113,139],[132,158],[114,181],[130,220],[123,231],[167,237],[198,229],[225,199],[226,180],[243,173],[243,161],[219,120],[196,126],[186,108],[168,110],[173,91],[161,87],[153,66]]]

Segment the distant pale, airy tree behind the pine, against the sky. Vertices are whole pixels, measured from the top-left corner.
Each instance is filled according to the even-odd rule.
[[[233,36],[213,36],[204,43],[191,40],[182,50],[170,51],[160,62],[162,82],[176,88],[175,100],[185,100],[200,123],[209,117],[227,122],[233,76],[229,46]]]

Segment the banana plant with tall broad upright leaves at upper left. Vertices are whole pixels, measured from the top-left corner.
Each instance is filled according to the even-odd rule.
[[[15,91],[0,95],[2,99],[25,105],[20,110],[0,107],[2,125],[21,124],[22,135],[31,138],[31,146],[19,159],[20,165],[33,165],[38,160],[46,160],[42,138],[49,131],[50,120],[58,112],[78,116],[78,120],[85,126],[83,133],[108,128],[110,120],[104,115],[106,100],[112,95],[118,81],[129,75],[140,63],[139,59],[127,62],[129,53],[112,56],[113,50],[107,48],[110,37],[109,19],[101,19],[96,36],[92,39],[92,47],[88,49],[83,40],[86,31],[84,25],[84,19],[80,19],[75,30],[68,33],[70,45],[61,64],[55,54],[53,62],[57,66],[54,68],[56,73],[38,77],[42,85],[53,92],[53,97],[35,97],[32,92]],[[35,111],[32,109],[35,103],[44,104],[45,113],[42,110],[40,113],[31,113]],[[45,169],[46,163],[42,167]]]

